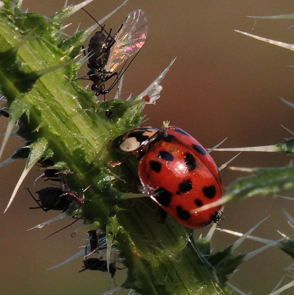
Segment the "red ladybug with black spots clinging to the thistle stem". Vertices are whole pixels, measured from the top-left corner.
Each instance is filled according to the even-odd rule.
[[[140,158],[143,189],[171,217],[197,229],[221,219],[221,206],[197,212],[221,198],[218,168],[205,148],[179,127],[135,128],[112,141],[113,148]]]

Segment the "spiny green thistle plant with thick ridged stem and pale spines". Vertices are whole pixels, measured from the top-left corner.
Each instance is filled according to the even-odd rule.
[[[91,1],[67,6],[49,18],[23,12],[21,1],[0,1],[0,87],[6,99],[2,111],[9,114],[0,156],[18,124],[16,134],[24,139],[24,146],[2,166],[27,158],[5,211],[35,164],[43,165],[45,171],[58,171],[67,189],[83,198],[83,205],[72,202],[65,212],[34,228],[70,216],[83,219],[84,232],[98,235],[99,249],[92,252],[104,256],[107,270],[115,268],[115,263],[127,268],[126,281],[115,290],[132,289],[136,294],[229,294],[229,276],[240,263],[262,250],[277,245],[293,257],[293,241],[285,236],[265,241],[265,247],[252,253],[235,254],[264,220],[234,244],[212,253],[210,240],[216,224],[199,239],[193,237],[193,230],[170,217],[159,224],[157,204],[133,187],[138,160],[128,157],[118,167],[108,165],[124,157],[111,149],[110,141],[141,124],[148,103],[144,97],[151,103],[159,97],[160,82],[174,60],[139,96],[97,100],[79,81],[72,80],[89,58],[83,56],[81,46],[98,24],[63,40],[63,22]],[[106,112],[111,112],[111,118]],[[273,149],[293,154],[293,142],[291,138]],[[51,165],[45,165],[48,160]],[[293,165],[252,172],[254,176],[233,183],[218,204],[294,187]],[[65,262],[85,255],[85,250],[96,255],[90,245],[85,248]]]

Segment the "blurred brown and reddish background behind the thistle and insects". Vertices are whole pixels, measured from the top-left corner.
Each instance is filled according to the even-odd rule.
[[[79,1],[69,1],[77,4]],[[93,1],[86,9],[99,20],[122,3],[122,0]],[[24,0],[23,10],[40,12],[46,16],[63,8],[63,1]],[[234,32],[243,30],[252,34],[294,43],[294,21],[261,20],[256,22],[247,15],[278,15],[293,13],[293,1],[142,1],[129,0],[114,16],[106,21],[106,30],[119,27],[121,20],[132,10],[142,9],[148,18],[148,35],[152,36],[132,63],[124,77],[122,98],[129,93],[141,93],[177,57],[162,82],[161,98],[156,106],[147,106],[144,114],[150,119],[145,125],[160,127],[163,120],[170,120],[196,137],[210,148],[229,137],[222,147],[270,145],[281,142],[290,134],[280,124],[294,130],[293,109],[280,101],[279,96],[293,100],[293,52]],[[67,23],[73,24],[67,32],[72,33],[81,22],[81,29],[93,24],[83,11],[77,12]],[[86,43],[87,44],[87,43]],[[86,45],[87,46],[87,45]],[[86,67],[79,76],[87,72]],[[115,94],[115,90],[112,95]],[[110,98],[110,96],[109,96]],[[1,132],[6,119],[1,118]],[[3,160],[21,145],[18,138],[10,138]],[[213,152],[220,166],[235,153]],[[291,157],[275,153],[245,153],[234,166],[262,167],[287,165]],[[22,163],[20,163],[22,162]],[[24,167],[24,161],[14,162],[1,170],[1,210],[12,194],[14,185]],[[70,219],[46,226],[42,230],[26,230],[50,219],[56,212],[29,210],[35,203],[25,188],[32,191],[46,184],[33,181],[40,171],[29,174],[19,189],[12,206],[0,214],[2,261],[0,263],[2,294],[100,294],[109,287],[107,273],[85,271],[82,259],[48,271],[65,258],[73,255],[84,245],[83,234],[68,239],[74,226],[43,242],[47,235],[71,222]],[[225,185],[244,176],[225,169],[221,176]],[[286,195],[286,194],[285,194]],[[288,196],[291,194],[288,193]],[[293,194],[292,194],[293,195]],[[286,235],[293,233],[282,213],[287,209],[293,216],[293,202],[267,197],[255,197],[225,206],[226,229],[246,232],[262,218],[270,218],[254,235],[278,239],[276,230]],[[197,230],[196,236],[208,229]],[[226,233],[216,232],[213,247],[221,249],[236,240]],[[238,249],[241,253],[252,251],[263,244],[245,241]],[[292,260],[280,250],[270,248],[239,267],[230,282],[252,295],[268,294],[280,281],[284,268]],[[125,271],[117,271],[116,284],[126,278]],[[284,283],[291,281],[289,277]],[[114,283],[111,282],[111,288]],[[117,294],[127,294],[120,291]],[[293,289],[285,291],[293,294]]]

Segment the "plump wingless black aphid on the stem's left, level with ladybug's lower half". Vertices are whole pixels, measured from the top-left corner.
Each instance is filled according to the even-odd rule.
[[[39,205],[39,207],[30,207],[29,209],[42,209],[45,212],[49,210],[60,210],[65,212],[73,201],[77,202],[79,206],[83,206],[84,203],[84,198],[79,196],[76,191],[64,191],[59,187],[48,186],[44,189],[36,191],[36,194],[39,196],[39,200],[33,196],[28,188],[27,190],[35,202]]]

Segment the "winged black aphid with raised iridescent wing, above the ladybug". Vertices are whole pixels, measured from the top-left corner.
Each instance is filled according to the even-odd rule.
[[[121,69],[118,73],[114,72],[115,69],[127,62],[132,55],[138,53],[144,45],[147,37],[147,18],[142,10],[137,9],[124,18],[113,37],[110,35],[111,30],[109,33],[106,32],[107,35],[104,32],[106,32],[104,26],[101,26],[101,31],[96,32],[90,39],[88,46],[88,55],[90,55],[88,68],[90,70],[86,76],[77,78],[93,81],[91,89],[96,96],[105,95],[114,88],[122,76],[122,74],[119,75],[123,70]],[[105,82],[114,76],[116,76],[114,83],[108,89],[105,89]]]

